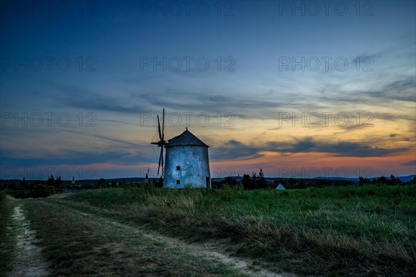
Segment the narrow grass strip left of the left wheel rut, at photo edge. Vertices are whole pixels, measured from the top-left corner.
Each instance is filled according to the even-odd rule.
[[[0,192],[0,276],[10,270],[15,254],[16,234],[8,226],[12,224],[10,216],[16,202],[14,198]]]

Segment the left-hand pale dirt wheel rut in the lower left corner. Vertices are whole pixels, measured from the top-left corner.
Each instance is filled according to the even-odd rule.
[[[17,256],[13,261],[13,269],[6,274],[7,277],[41,277],[47,276],[48,263],[42,255],[42,248],[34,244],[35,231],[31,230],[31,224],[21,210],[21,205],[16,206],[12,215],[14,222],[12,229],[17,233]]]

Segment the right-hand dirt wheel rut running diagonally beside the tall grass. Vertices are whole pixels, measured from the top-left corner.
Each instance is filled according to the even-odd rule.
[[[91,216],[91,217],[99,217],[98,215],[93,215],[90,213],[83,213],[78,211],[81,215],[84,216]],[[109,220],[106,217],[101,217],[102,219]],[[178,247],[180,249],[184,249],[187,253],[191,253],[195,256],[207,256],[208,258],[218,260],[223,262],[223,264],[228,265],[236,269],[237,271],[241,272],[242,274],[254,277],[297,277],[295,274],[290,273],[276,273],[273,271],[269,271],[267,269],[263,269],[257,265],[254,265],[254,261],[250,259],[243,259],[243,258],[236,258],[233,256],[227,255],[225,252],[218,251],[218,244],[214,243],[190,243],[184,240],[180,240],[178,238],[171,238],[166,235],[162,235],[161,233],[157,233],[155,231],[149,231],[148,229],[141,229],[135,226],[130,226],[127,224],[122,224],[119,222],[110,221],[111,224],[115,226],[119,226],[123,229],[131,229],[134,232],[139,232],[144,237],[150,238],[152,240],[163,241],[169,244],[171,247]]]

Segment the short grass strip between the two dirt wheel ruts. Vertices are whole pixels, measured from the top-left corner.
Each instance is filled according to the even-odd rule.
[[[51,199],[24,200],[26,217],[48,258],[51,276],[241,276],[107,217]]]

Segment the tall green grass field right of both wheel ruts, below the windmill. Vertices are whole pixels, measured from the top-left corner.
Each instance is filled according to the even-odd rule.
[[[61,201],[61,200],[60,200]],[[68,206],[229,251],[275,271],[320,276],[416,274],[416,187],[306,190],[90,190]]]

